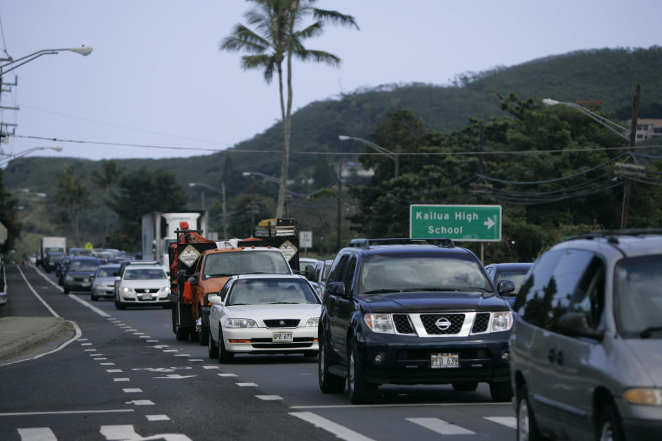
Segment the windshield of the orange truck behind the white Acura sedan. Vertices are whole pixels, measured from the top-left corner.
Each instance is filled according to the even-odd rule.
[[[212,253],[205,258],[204,278],[241,274],[291,274],[290,265],[279,251]]]

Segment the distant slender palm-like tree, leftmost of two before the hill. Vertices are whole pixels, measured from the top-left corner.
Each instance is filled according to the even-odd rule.
[[[66,216],[74,234],[74,243],[80,246],[79,214],[82,209],[90,205],[90,192],[83,184],[83,177],[75,176],[75,172],[75,166],[69,164],[63,173],[57,175],[54,202],[66,210]]]

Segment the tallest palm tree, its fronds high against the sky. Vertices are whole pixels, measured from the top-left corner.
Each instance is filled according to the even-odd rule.
[[[221,41],[220,50],[244,50],[248,55],[241,57],[245,69],[263,69],[263,76],[270,83],[274,71],[278,73],[281,125],[283,132],[283,160],[281,181],[278,189],[276,217],[283,216],[285,187],[288,182],[290,163],[290,132],[292,129],[292,56],[308,61],[325,62],[338,66],[339,57],[323,50],[310,50],[304,47],[303,40],[317,37],[323,32],[325,23],[354,26],[359,29],[354,17],[337,11],[314,8],[317,0],[250,0],[254,8],[244,14],[248,25],[254,25],[257,32],[241,23],[234,26],[232,34]],[[308,17],[314,23],[301,28]],[[287,103],[283,94],[283,61],[287,75]]]

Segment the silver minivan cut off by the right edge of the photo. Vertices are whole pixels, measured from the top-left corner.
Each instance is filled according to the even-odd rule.
[[[662,437],[662,231],[555,245],[514,302],[517,439]]]

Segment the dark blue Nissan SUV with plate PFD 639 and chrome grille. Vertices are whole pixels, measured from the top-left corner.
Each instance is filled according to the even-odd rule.
[[[512,289],[505,283],[503,289]],[[354,404],[380,384],[488,382],[508,401],[512,310],[450,239],[354,239],[334,259],[319,320],[319,387]]]

